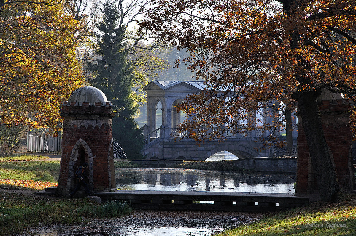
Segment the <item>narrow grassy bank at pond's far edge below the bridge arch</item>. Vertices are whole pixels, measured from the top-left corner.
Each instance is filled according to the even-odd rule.
[[[233,161],[185,161],[175,166],[176,168],[215,170],[215,171],[237,171],[241,170],[234,166]]]

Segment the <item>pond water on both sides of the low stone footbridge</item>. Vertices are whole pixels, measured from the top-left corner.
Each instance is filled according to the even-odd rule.
[[[178,168],[116,169],[117,188],[167,191],[294,193],[295,175]],[[197,185],[198,183],[198,185]],[[226,186],[226,187],[224,187]],[[208,236],[261,219],[263,213],[136,210],[124,218],[44,226],[30,236]]]

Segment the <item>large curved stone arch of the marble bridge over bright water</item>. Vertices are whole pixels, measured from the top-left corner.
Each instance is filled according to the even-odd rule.
[[[244,159],[248,157],[261,157],[261,154],[259,154],[256,150],[248,148],[243,145],[237,145],[237,144],[226,144],[226,145],[219,145],[210,151],[208,151],[204,155],[204,160],[208,159],[210,156],[221,152],[221,151],[228,151],[237,156],[239,159]]]

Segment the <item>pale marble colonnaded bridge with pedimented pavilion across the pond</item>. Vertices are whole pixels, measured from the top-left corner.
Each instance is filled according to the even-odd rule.
[[[189,138],[175,140],[174,136],[177,135],[177,125],[180,123],[181,116],[174,106],[182,102],[188,94],[199,93],[203,89],[203,82],[198,81],[152,81],[144,88],[147,92],[147,124],[143,127],[146,144],[142,150],[145,159],[204,161],[220,151],[229,151],[239,159],[268,157],[271,154],[276,154],[275,149],[266,149],[266,143],[261,141],[261,137],[270,135],[269,131],[262,132],[260,129],[248,132],[247,136],[227,135],[227,140],[222,143],[205,141],[197,145],[195,140]],[[156,128],[158,123],[157,109],[159,107],[162,109],[162,125]],[[273,117],[273,111],[268,109],[270,108],[266,108],[263,113],[270,113],[271,115],[263,115],[259,122],[272,123],[275,117]],[[256,122],[258,122],[256,113],[254,116]],[[298,135],[295,129],[295,121],[294,116],[292,119],[293,144],[296,144]],[[276,136],[280,140],[286,140],[286,137],[280,135],[279,131]],[[284,148],[283,155],[295,156],[296,147]]]

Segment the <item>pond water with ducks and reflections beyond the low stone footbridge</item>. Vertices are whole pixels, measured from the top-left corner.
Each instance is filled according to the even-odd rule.
[[[295,175],[179,168],[116,169],[117,188],[166,191],[294,193]],[[198,185],[197,185],[198,184]],[[226,187],[224,187],[226,186]]]

